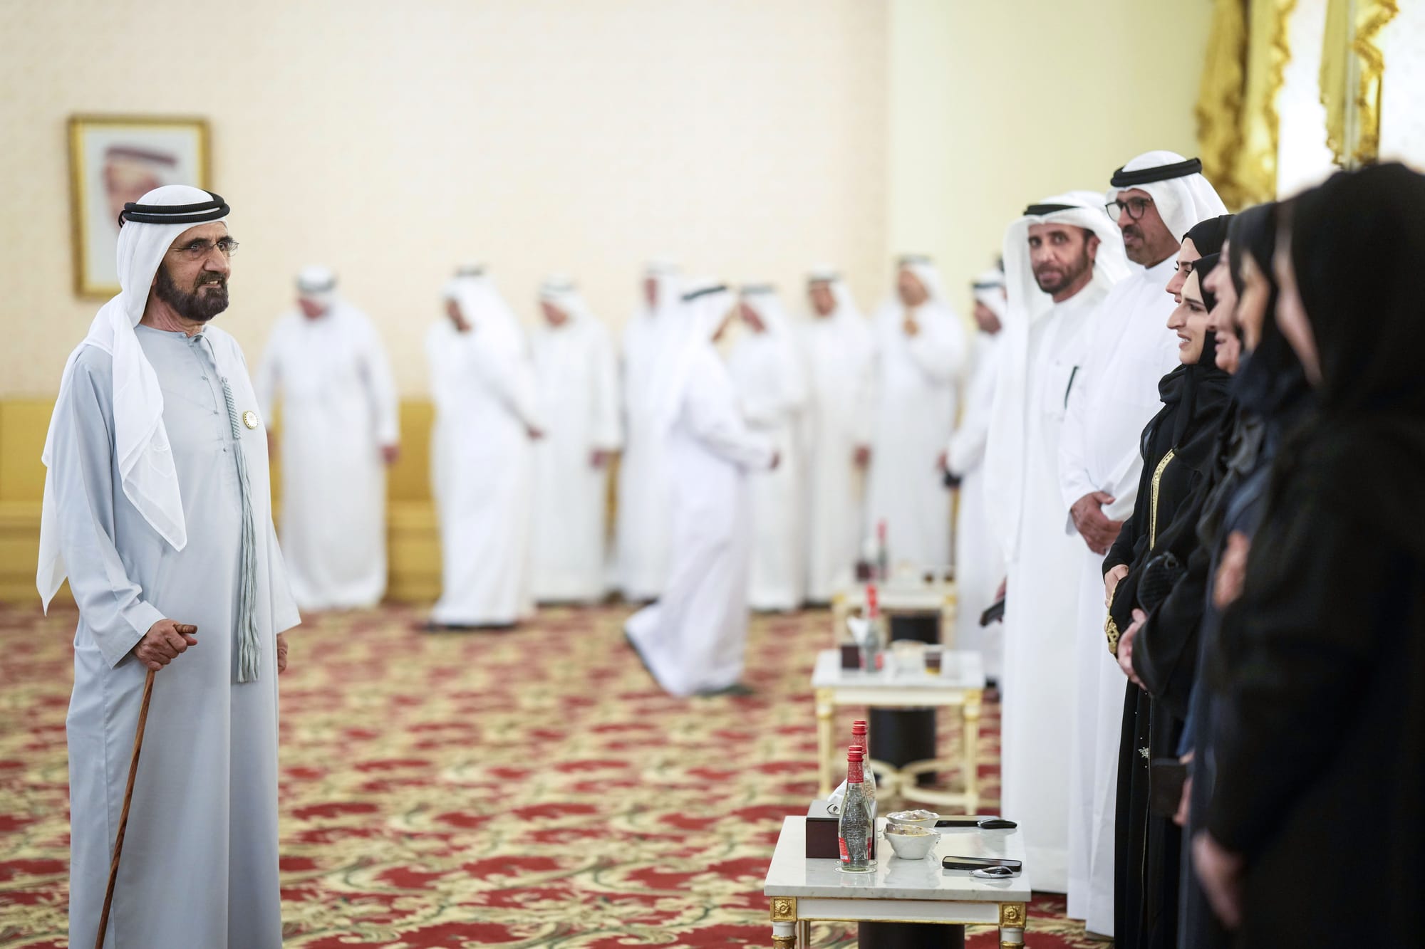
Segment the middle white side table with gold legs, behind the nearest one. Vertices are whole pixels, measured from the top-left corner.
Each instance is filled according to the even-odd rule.
[[[950,707],[960,712],[960,757],[959,761],[911,761],[895,767],[871,759],[876,772],[876,794],[881,799],[899,795],[906,801],[933,804],[936,807],[960,807],[966,814],[979,811],[979,772],[976,750],[979,747],[980,707],[985,700],[985,665],[979,653],[942,653],[940,673],[905,671],[862,671],[841,668],[839,650],[822,650],[817,654],[817,667],[811,675],[811,687],[817,695],[817,772],[819,778],[818,797],[828,797],[835,787],[835,757],[841,745],[835,740],[835,712],[838,705],[865,705],[869,708],[932,708]],[[875,751],[876,737],[871,735],[871,750]],[[921,774],[943,771],[959,765],[962,788],[959,791],[936,791],[916,785]]]

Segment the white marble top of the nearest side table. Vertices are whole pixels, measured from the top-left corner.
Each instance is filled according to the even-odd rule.
[[[878,832],[885,818],[876,821]],[[876,844],[879,858],[869,873],[842,873],[834,859],[807,859],[807,818],[789,816],[777,838],[772,865],[767,869],[762,892],[767,896],[807,896],[829,899],[945,899],[966,902],[1029,902],[1029,866],[1007,879],[978,879],[970,871],[948,871],[942,856],[1003,856],[1025,859],[1025,838],[1019,828],[982,831],[979,828],[939,828],[940,839],[919,861],[903,861],[884,839]]]

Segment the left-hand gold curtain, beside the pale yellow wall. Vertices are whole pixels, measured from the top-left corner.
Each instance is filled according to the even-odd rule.
[[[1277,94],[1297,0],[1216,0],[1197,98],[1203,174],[1228,208],[1277,195]]]

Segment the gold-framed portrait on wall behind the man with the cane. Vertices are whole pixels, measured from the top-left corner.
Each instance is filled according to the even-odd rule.
[[[209,188],[208,123],[157,115],[70,118],[70,215],[74,292],[118,292],[118,212],[165,184]]]

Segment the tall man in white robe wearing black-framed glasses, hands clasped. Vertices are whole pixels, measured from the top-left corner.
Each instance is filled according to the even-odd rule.
[[[1143,426],[1163,405],[1159,379],[1178,365],[1178,339],[1167,328],[1174,304],[1164,292],[1177,251],[1194,224],[1227,212],[1201,167],[1196,158],[1150,151],[1114,172],[1109,208],[1136,266],[1094,315],[1059,449],[1063,524],[1079,550],[1069,915],[1104,936],[1113,935],[1123,673],[1104,640],[1103,556],[1133,513]]]

